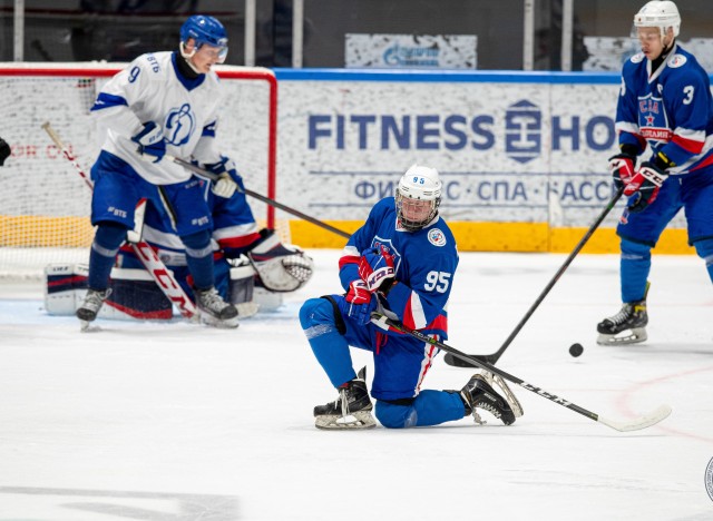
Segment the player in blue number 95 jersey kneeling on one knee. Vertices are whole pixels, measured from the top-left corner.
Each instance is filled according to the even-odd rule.
[[[458,252],[438,215],[441,181],[436,169],[413,165],[397,195],[371,209],[349,239],[340,259],[345,293],[306,301],[302,328],[339,396],[314,407],[319,429],[369,429],[375,425],[365,371],[356,374],[350,346],[373,353],[371,395],[375,415],[392,429],[436,425],[488,411],[509,425],[522,410],[505,382],[476,374],[460,391],[421,390],[438,348],[370,323],[380,309],[408,327],[446,340],[448,297]],[[494,382],[505,395],[497,393]]]

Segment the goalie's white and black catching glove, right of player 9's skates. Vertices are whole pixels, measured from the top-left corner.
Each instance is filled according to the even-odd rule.
[[[294,292],[314,273],[314,260],[297,246],[282,244],[274,230],[261,230],[263,238],[247,253],[262,285],[272,292]]]

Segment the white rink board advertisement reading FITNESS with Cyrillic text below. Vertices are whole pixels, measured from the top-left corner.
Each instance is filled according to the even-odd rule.
[[[583,227],[606,206],[618,77],[408,76],[281,80],[279,193],[320,218],[363,220],[393,195],[401,173],[422,163],[441,173],[449,222]]]

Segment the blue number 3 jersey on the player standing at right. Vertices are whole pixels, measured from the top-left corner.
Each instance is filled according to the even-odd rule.
[[[616,108],[619,144],[639,154],[646,145],[665,154],[686,174],[713,165],[713,99],[709,75],[677,45],[655,71],[644,53],[633,56],[622,72]]]

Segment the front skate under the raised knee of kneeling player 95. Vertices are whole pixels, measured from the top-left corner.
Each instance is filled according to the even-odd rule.
[[[339,397],[326,405],[314,407],[314,425],[324,430],[372,429],[377,425],[371,415],[373,405],[367,390],[367,367],[354,380],[339,389]]]

